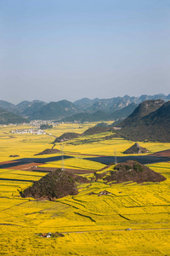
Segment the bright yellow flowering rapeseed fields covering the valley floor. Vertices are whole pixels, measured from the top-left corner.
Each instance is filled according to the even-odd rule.
[[[85,124],[81,129],[88,129],[88,125],[90,127],[91,124]],[[62,125],[59,127],[60,131],[55,129],[50,132],[61,135]],[[63,127],[66,130],[66,126]],[[70,128],[71,125],[68,125],[66,131]],[[48,135],[11,137],[9,131],[13,129],[10,126],[0,127],[1,162],[14,160],[9,157],[10,154],[19,154],[20,158],[35,157],[34,154],[50,148],[50,143],[54,141],[54,137]],[[85,160],[87,156],[84,154],[114,157],[116,149],[116,154],[121,156],[125,149],[133,145],[133,142],[113,138],[74,143],[78,139],[72,144],[64,143],[65,154],[74,154],[74,158],[65,160],[65,168],[102,170],[105,165]],[[168,143],[140,144],[150,153],[170,148]],[[54,155],[59,154],[47,157]],[[61,164],[59,160],[42,167],[55,168]],[[0,255],[170,255],[170,162],[149,166],[167,180],[162,183],[113,185],[99,180],[80,184],[78,195],[56,201],[20,197],[20,189],[30,186],[46,172],[0,169]],[[113,166],[110,166],[108,170],[112,169]],[[94,174],[84,176],[90,178]],[[108,193],[102,194],[103,191]],[[47,232],[61,232],[64,236],[38,236]]]

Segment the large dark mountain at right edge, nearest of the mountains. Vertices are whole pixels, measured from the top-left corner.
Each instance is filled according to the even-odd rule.
[[[170,143],[170,101],[150,100],[139,104],[117,133],[133,141]]]

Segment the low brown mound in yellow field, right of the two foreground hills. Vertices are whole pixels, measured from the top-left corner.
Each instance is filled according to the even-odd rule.
[[[125,183],[132,181],[136,183],[156,183],[166,180],[166,177],[160,173],[154,172],[149,167],[133,160],[127,160],[126,162],[117,164],[115,171],[111,171],[110,174],[105,177],[107,182]]]

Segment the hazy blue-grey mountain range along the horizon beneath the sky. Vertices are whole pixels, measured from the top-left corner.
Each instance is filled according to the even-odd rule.
[[[59,102],[20,102],[14,105],[10,102],[0,101],[0,108],[8,113],[14,113],[22,118],[27,119],[53,119],[56,121],[68,122],[87,122],[102,120],[125,119],[133,113],[133,110],[141,103],[147,100],[161,99],[165,102],[170,100],[170,94],[165,96],[158,94],[154,96],[123,96],[113,97],[110,99],[95,98],[90,100],[82,98],[76,102],[66,100]],[[0,120],[3,123],[3,119]],[[9,123],[12,123],[8,119]]]

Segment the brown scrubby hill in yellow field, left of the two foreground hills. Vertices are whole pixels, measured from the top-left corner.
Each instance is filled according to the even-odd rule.
[[[33,183],[31,187],[24,191],[21,190],[20,195],[22,197],[55,200],[66,195],[77,195],[77,183],[88,183],[88,179],[57,169]]]

